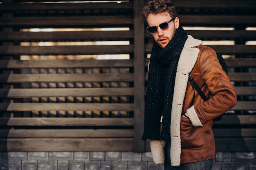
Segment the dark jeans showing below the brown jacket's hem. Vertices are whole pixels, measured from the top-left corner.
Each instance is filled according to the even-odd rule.
[[[171,166],[170,157],[171,142],[167,142],[164,148],[164,170],[211,170],[213,165],[213,159],[207,159],[204,161],[184,163],[180,166]]]

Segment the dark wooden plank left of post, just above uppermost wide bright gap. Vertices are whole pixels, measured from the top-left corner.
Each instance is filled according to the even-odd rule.
[[[245,16],[252,19],[251,16]],[[0,18],[0,26],[106,26],[133,24],[132,15],[15,17]]]

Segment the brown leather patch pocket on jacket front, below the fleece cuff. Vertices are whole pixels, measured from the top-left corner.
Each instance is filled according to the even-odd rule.
[[[190,119],[182,117],[180,128],[182,149],[194,149],[204,146],[204,137],[201,126],[195,127],[192,125]]]

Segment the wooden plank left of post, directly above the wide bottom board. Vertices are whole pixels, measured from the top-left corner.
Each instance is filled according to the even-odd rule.
[[[0,138],[132,138],[133,129],[1,129]]]

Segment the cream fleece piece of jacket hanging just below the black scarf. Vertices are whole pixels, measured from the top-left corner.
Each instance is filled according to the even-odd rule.
[[[164,163],[164,147],[166,141],[150,140],[150,148],[155,164]]]

